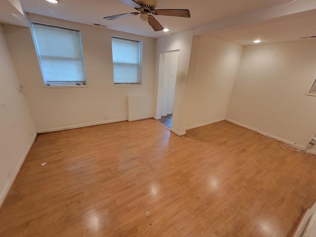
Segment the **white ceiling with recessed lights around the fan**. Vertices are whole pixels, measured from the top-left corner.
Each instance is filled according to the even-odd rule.
[[[45,0],[1,0],[1,23],[25,26],[26,18],[17,10],[19,2],[24,12],[87,25],[96,23],[152,38],[165,34],[154,32],[139,16],[104,20],[105,16],[135,11],[119,0],[59,0],[58,4]],[[170,29],[171,35],[194,28],[196,36],[208,35],[242,45],[253,44],[252,40],[258,38],[263,43],[273,43],[316,35],[316,0],[158,0],[157,7],[190,9],[191,18],[155,16],[163,27]]]

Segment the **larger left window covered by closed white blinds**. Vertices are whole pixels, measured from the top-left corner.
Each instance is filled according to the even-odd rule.
[[[46,85],[86,85],[80,32],[31,23]]]

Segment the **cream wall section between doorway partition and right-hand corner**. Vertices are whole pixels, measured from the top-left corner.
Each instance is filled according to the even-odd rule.
[[[185,96],[186,129],[224,120],[243,46],[194,37]]]

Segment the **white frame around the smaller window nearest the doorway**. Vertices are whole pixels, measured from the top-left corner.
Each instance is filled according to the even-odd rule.
[[[137,83],[130,83],[130,82],[120,82],[116,83],[115,78],[114,78],[114,61],[113,61],[113,39],[118,39],[118,40],[127,40],[127,41],[133,41],[138,43],[138,82]],[[142,86],[142,65],[143,65],[143,41],[141,40],[134,40],[134,39],[129,39],[129,38],[124,38],[124,37],[118,37],[118,36],[111,36],[111,49],[112,49],[112,70],[113,70],[113,82],[115,87],[140,87]]]

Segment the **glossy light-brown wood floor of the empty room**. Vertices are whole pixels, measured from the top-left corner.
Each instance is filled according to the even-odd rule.
[[[146,119],[39,135],[0,236],[289,237],[315,201],[315,156],[227,121],[178,137]]]

